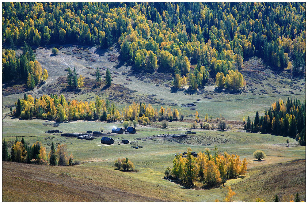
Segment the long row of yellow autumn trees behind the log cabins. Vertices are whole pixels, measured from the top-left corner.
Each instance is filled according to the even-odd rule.
[[[15,102],[17,106],[18,101]],[[122,108],[121,112],[116,108],[114,103],[107,99],[100,99],[98,96],[92,102],[78,102],[77,100],[66,100],[63,95],[43,95],[40,98],[34,98],[28,95],[27,98],[20,99],[21,114],[16,116],[21,118],[37,118],[49,120],[127,120],[140,121],[147,117],[149,121],[156,120],[177,120],[179,111],[171,107],[164,108],[161,106],[160,111],[154,109],[151,104],[133,102],[129,106]],[[148,121],[148,122],[149,122]],[[147,122],[147,123],[148,123]]]

